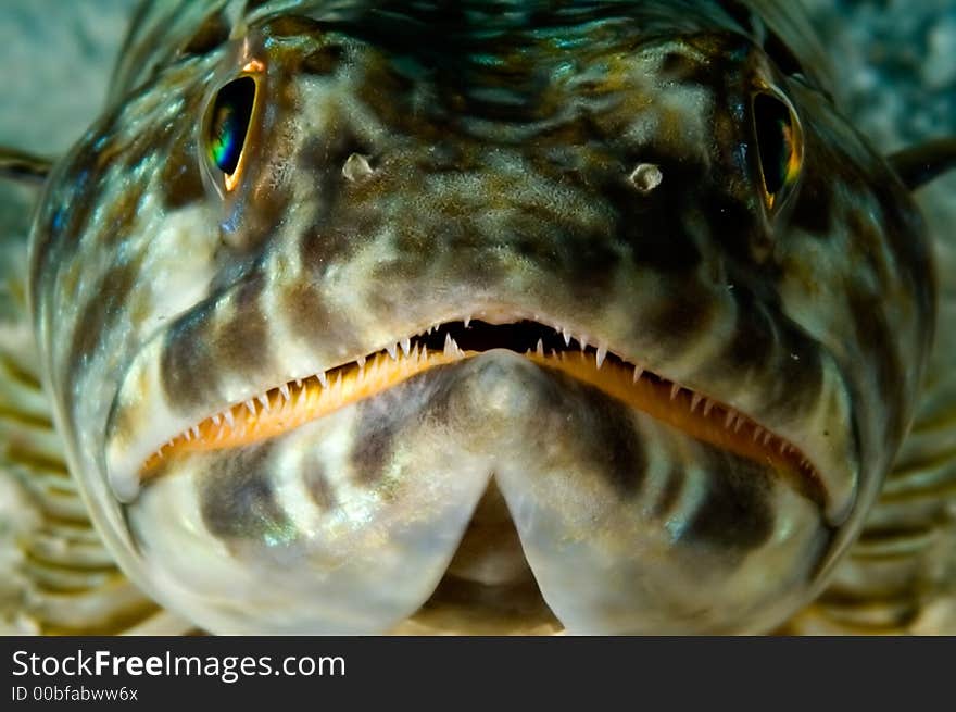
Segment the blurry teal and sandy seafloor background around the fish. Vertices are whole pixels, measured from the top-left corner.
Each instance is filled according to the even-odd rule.
[[[876,147],[891,152],[956,135],[956,0],[804,3],[832,57],[841,105]],[[0,2],[0,145],[55,157],[80,136],[102,105],[135,5],[133,0]],[[11,234],[25,234],[32,195],[0,184],[0,234],[8,242]],[[918,197],[940,259],[942,326],[933,357],[940,365],[956,362],[956,172]],[[0,295],[0,318],[7,309]],[[947,388],[956,397],[956,377]],[[0,575],[16,557],[10,537],[24,515],[23,501],[0,472]],[[0,582],[0,632],[10,624],[21,627],[3,620],[17,595],[11,584]]]

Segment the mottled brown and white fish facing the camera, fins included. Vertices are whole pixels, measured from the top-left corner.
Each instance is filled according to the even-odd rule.
[[[146,2],[7,157],[24,625],[945,629],[956,149],[872,147],[793,3]]]

